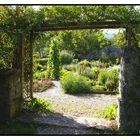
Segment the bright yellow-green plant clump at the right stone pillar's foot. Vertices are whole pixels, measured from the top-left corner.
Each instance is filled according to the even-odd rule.
[[[115,120],[117,117],[117,104],[114,103],[105,107],[100,111],[99,116],[105,119]]]

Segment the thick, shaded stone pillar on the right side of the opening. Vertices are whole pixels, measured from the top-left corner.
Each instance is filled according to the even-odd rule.
[[[119,128],[140,131],[140,48],[125,47],[122,54],[119,99]]]

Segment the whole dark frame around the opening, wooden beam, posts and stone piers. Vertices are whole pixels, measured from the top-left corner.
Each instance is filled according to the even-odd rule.
[[[7,106],[6,112],[2,112],[2,119],[9,119],[16,116],[17,113],[21,111],[23,103],[26,105],[27,102],[33,97],[32,84],[33,84],[33,41],[34,36],[38,32],[45,31],[59,31],[59,30],[81,30],[81,29],[116,29],[116,28],[125,28],[127,34],[127,47],[124,48],[124,53],[122,56],[122,64],[121,64],[121,77],[120,77],[120,99],[119,99],[119,127],[123,130],[128,128],[136,128],[134,130],[139,130],[140,128],[140,113],[138,113],[138,109],[140,109],[140,95],[139,94],[130,94],[129,89],[133,88],[137,93],[140,92],[140,76],[136,77],[134,75],[128,75],[129,72],[134,72],[138,74],[138,69],[140,70],[140,49],[134,46],[134,33],[131,25],[138,25],[139,21],[134,22],[117,22],[117,21],[96,21],[96,22],[86,22],[86,23],[78,23],[78,22],[61,22],[56,23],[56,21],[45,21],[40,27],[33,27],[32,30],[28,32],[29,35],[29,45],[25,46],[25,34],[23,32],[18,33],[18,42],[17,47],[14,52],[14,62],[13,62],[13,70],[10,73],[4,74],[5,77],[7,75],[10,78],[10,82],[12,82],[12,88],[7,92],[7,96],[9,96],[8,101],[3,103],[3,106]],[[15,29],[18,30],[18,29]],[[138,53],[139,52],[139,53]],[[132,58],[131,58],[132,57]],[[128,61],[129,59],[134,59],[136,62]],[[135,66],[137,68],[135,69]],[[0,76],[1,78],[2,76]],[[131,82],[135,80],[136,84],[130,85]],[[5,83],[4,83],[5,84]],[[125,86],[127,85],[127,87]],[[9,87],[11,85],[9,84]],[[0,87],[1,88],[1,87]],[[6,89],[5,89],[6,90]],[[18,91],[17,91],[18,90]],[[13,93],[14,92],[14,93]],[[131,91],[132,92],[132,91]],[[126,96],[127,98],[126,98]],[[135,96],[134,98],[132,98]],[[15,101],[16,99],[16,101]],[[22,100],[24,99],[24,100]],[[10,102],[7,105],[7,102]],[[128,107],[130,110],[128,110]],[[1,106],[0,106],[1,108]],[[132,113],[133,112],[133,113]]]

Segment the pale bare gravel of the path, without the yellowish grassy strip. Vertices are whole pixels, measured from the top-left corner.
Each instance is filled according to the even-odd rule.
[[[45,98],[48,101],[56,103],[77,103],[81,105],[95,106],[97,108],[105,107],[112,103],[117,103],[116,95],[105,95],[105,94],[77,94],[70,95],[64,94],[58,81],[53,81],[54,85],[52,88],[44,92],[34,93],[35,97]]]

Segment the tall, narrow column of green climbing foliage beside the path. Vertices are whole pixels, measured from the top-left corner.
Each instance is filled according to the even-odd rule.
[[[60,77],[60,55],[56,41],[51,42],[47,63],[47,76],[55,79]]]

